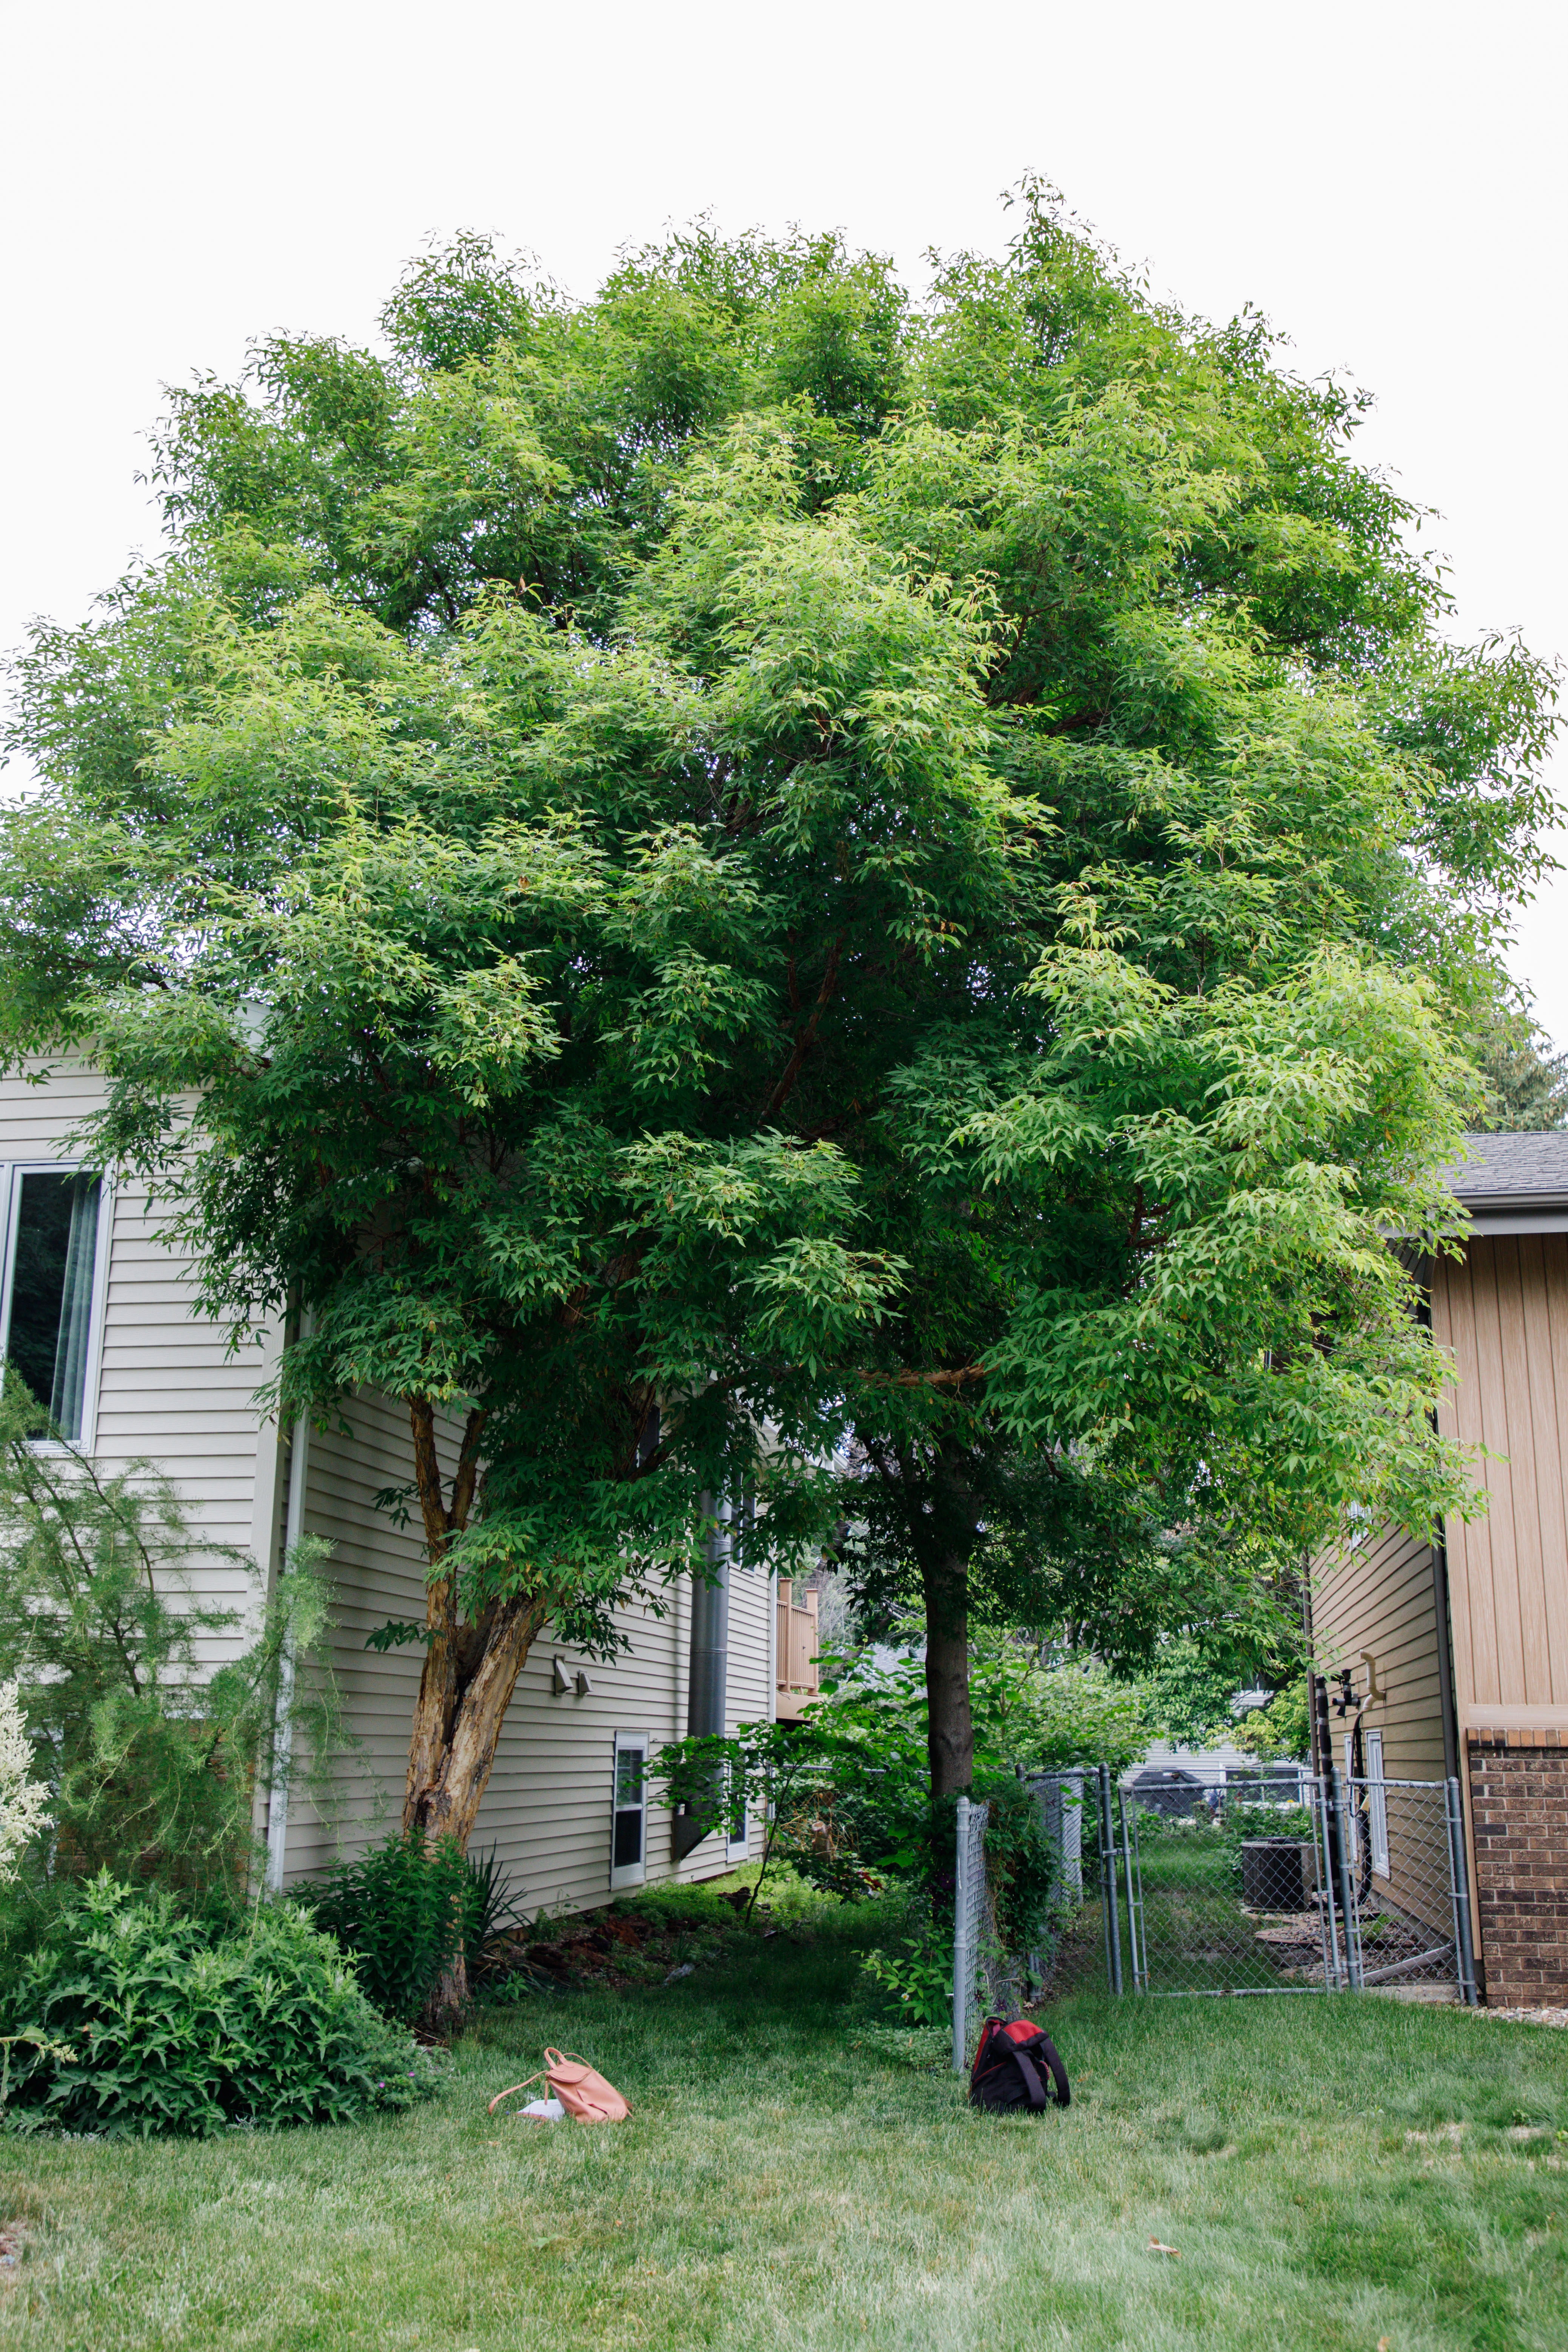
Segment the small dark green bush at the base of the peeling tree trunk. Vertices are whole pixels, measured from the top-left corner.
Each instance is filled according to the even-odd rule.
[[[458,1952],[470,1973],[480,1969],[512,1903],[494,1849],[475,1858],[449,1837],[400,1830],[357,1863],[339,1863],[313,1912],[353,1957],[376,2009],[414,2023]]]

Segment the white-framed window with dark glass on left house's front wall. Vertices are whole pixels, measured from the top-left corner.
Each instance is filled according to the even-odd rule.
[[[82,1435],[87,1404],[99,1190],[96,1176],[28,1169],[12,1195],[5,1359],[71,1439]]]

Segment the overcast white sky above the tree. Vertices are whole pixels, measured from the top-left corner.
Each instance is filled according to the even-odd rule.
[[[1251,299],[1300,367],[1373,388],[1363,449],[1441,508],[1458,628],[1563,654],[1566,19],[0,0],[0,647],[155,548],[134,473],[160,383],[280,327],[369,336],[430,230],[498,230],[588,292],[616,245],[712,207],[842,226],[919,280],[929,245],[997,247],[1034,169],[1157,287],[1213,318]],[[1568,875],[1516,969],[1568,1044]]]

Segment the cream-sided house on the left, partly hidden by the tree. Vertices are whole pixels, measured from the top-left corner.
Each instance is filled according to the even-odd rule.
[[[268,1858],[270,1879],[294,1879],[386,1835],[402,1809],[423,1651],[376,1653],[364,1637],[388,1618],[423,1618],[423,1548],[374,1508],[411,1475],[409,1416],[381,1395],[346,1406],[353,1435],[289,1435],[263,1416],[254,1397],[275,1371],[277,1334],[230,1355],[195,1305],[188,1261],[160,1242],[143,1190],[96,1183],[71,1162],[71,1129],[99,1101],[101,1084],[82,1068],[47,1084],[0,1080],[0,1350],[106,1468],[146,1456],[169,1475],[193,1534],[212,1545],[190,1585],[237,1613],[235,1649],[284,1545],[301,1531],[331,1543],[334,1665],[357,1745],[343,1757],[331,1823],[294,1795],[282,1858]],[[745,1858],[745,1823],[738,1837],[715,1832],[677,1858],[672,1818],[646,1804],[635,1766],[635,1755],[686,1731],[693,1602],[724,1651],[729,1731],[797,1712],[813,1686],[795,1630],[806,1611],[790,1609],[788,1588],[776,1599],[759,1571],[729,1573],[726,1609],[684,1581],[663,1618],[621,1611],[630,1646],[609,1665],[545,1632],[517,1682],[475,1830],[475,1849],[498,1849],[529,1910],[578,1910],[644,1877],[701,1879]],[[778,1621],[788,1623],[783,1705]]]

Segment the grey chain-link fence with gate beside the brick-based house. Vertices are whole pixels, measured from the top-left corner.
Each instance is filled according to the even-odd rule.
[[[1051,1945],[1009,1955],[990,1809],[959,1799],[952,2063],[980,2009],[1034,1987],[1112,1994],[1399,1992],[1476,1999],[1458,1780],[1265,1766],[1204,1783],[1105,1766],[1030,1780],[1056,1851]]]

